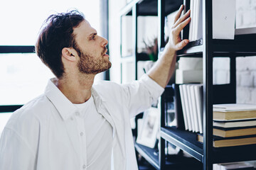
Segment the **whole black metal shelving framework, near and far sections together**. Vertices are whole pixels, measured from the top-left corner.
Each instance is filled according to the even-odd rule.
[[[170,169],[166,159],[166,142],[181,148],[198,160],[198,169],[213,169],[213,164],[223,162],[240,162],[256,160],[256,156],[248,154],[256,152],[256,145],[239,147],[213,147],[213,104],[236,102],[236,74],[235,57],[256,55],[256,44],[253,42],[254,35],[236,35],[235,40],[213,40],[212,1],[203,0],[203,39],[189,42],[183,50],[177,52],[177,57],[202,57],[203,58],[203,144],[196,140],[196,133],[178,128],[166,127],[164,103],[161,103],[161,130],[159,160],[142,145],[136,145],[137,152],[142,154],[156,169]],[[176,11],[183,4],[183,0],[134,0],[122,10],[122,15],[134,17],[134,56],[137,55],[137,16],[157,15],[159,17],[159,54],[164,48],[164,18]],[[156,8],[151,9],[154,5]],[[171,6],[171,7],[170,7]],[[128,10],[128,8],[130,10]],[[146,13],[148,11],[148,13]],[[230,84],[213,85],[213,57],[230,58]],[[166,96],[161,96],[165,98]],[[164,100],[162,100],[164,101]],[[177,113],[182,114],[182,113]],[[173,159],[175,160],[175,159]],[[177,160],[176,160],[177,161]],[[200,168],[201,166],[201,168]],[[193,166],[191,166],[193,167]]]

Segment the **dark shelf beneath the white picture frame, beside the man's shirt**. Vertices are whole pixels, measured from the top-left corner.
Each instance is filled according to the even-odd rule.
[[[135,148],[137,149],[137,152],[146,159],[154,168],[160,169],[159,167],[159,157],[158,152],[156,149],[152,149],[149,147],[145,147],[144,145],[139,145],[135,143]]]

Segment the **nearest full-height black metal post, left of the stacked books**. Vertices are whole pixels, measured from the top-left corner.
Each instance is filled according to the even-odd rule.
[[[213,169],[213,1],[203,0],[203,169]]]

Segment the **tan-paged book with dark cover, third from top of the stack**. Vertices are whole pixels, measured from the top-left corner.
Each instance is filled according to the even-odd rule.
[[[220,137],[238,137],[256,135],[256,126],[242,128],[220,128],[213,127],[213,135]]]

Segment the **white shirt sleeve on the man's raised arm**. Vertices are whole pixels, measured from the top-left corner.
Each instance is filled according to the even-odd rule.
[[[125,84],[124,91],[127,94],[127,104],[130,118],[145,111],[164,92],[164,88],[151,79],[147,74],[134,81],[132,84]]]

